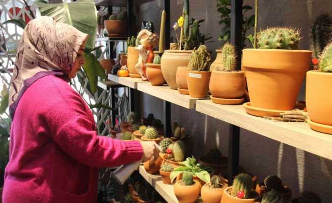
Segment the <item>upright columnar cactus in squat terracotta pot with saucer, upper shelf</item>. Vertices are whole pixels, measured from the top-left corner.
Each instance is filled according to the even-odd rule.
[[[209,89],[213,103],[237,105],[244,100],[245,76],[243,71],[236,71],[235,48],[226,43],[222,48],[223,67],[212,71]]]

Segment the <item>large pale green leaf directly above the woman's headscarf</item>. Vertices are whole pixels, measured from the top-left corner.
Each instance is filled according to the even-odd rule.
[[[45,4],[36,2],[42,16],[52,16],[57,22],[67,23],[87,33],[87,49],[95,47],[97,10],[94,1],[81,0],[72,3]]]

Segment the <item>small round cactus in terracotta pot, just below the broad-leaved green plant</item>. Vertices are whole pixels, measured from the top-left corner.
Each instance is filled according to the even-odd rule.
[[[183,173],[183,179],[174,185],[174,193],[179,203],[193,203],[200,194],[201,187],[198,182],[193,181],[193,174]]]

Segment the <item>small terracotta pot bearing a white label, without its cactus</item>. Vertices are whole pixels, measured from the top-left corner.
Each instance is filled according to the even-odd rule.
[[[190,97],[204,98],[209,90],[211,72],[209,71],[188,71],[187,81]]]

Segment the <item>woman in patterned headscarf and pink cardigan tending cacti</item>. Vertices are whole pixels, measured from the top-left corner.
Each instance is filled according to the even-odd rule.
[[[87,38],[51,17],[25,27],[11,83],[4,203],[96,202],[98,167],[158,156],[153,143],[96,134],[89,107],[68,84],[84,63]]]

